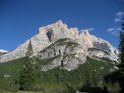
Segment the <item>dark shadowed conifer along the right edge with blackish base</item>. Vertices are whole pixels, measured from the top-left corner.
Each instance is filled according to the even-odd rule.
[[[105,77],[106,88],[109,93],[124,93],[124,18],[120,18],[120,23],[119,70]]]

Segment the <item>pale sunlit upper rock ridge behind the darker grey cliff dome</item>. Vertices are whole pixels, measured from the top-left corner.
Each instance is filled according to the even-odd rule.
[[[86,54],[89,53],[89,55],[92,54],[93,56],[96,56],[101,53],[100,56],[97,56],[97,57],[101,57],[102,55],[102,57],[110,58],[112,61],[118,60],[118,50],[114,48],[109,42],[103,39],[97,38],[93,35],[90,35],[88,30],[84,30],[80,34],[79,32],[80,31],[77,28],[68,28],[67,25],[64,24],[61,20],[54,24],[40,27],[39,33],[37,35],[33,36],[32,38],[27,40],[25,43],[21,44],[14,51],[1,55],[0,62],[7,62],[9,60],[18,59],[26,56],[29,41],[32,42],[33,55],[37,55],[40,51],[44,50],[49,45],[51,46],[54,42],[64,38],[69,38],[74,42],[78,43],[82,47],[82,51],[86,50],[85,52]],[[54,47],[58,49],[57,48],[58,46],[54,46]],[[61,50],[60,52],[62,52],[62,49],[64,50],[66,49],[64,48],[64,46],[61,46],[61,47],[62,48],[60,49]],[[99,49],[99,51],[96,51],[96,50],[87,51],[89,48]],[[76,50],[76,48],[74,49]],[[69,51],[69,49],[67,49],[67,51]],[[105,55],[103,54],[104,53],[103,51],[106,51],[109,54]],[[54,50],[54,51],[51,51],[51,54],[52,53],[54,55],[57,55],[59,52]],[[51,57],[52,56],[51,54],[49,53],[48,55]]]

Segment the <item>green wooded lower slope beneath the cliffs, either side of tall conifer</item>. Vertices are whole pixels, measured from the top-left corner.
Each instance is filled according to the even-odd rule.
[[[19,86],[15,85],[15,80],[18,79],[19,72],[26,60],[27,58],[21,58],[0,64],[0,91],[18,90]],[[38,65],[46,64],[44,62],[42,63],[40,60]],[[41,67],[40,65],[39,67]],[[99,81],[103,80],[104,76],[111,73],[110,69],[113,69],[113,66],[114,64],[111,62],[98,61],[88,58],[86,63],[72,71],[66,71],[59,67],[47,72],[41,71],[36,84],[34,84],[34,88],[40,89],[40,92],[18,91],[17,93],[60,93],[61,91],[67,90],[67,84],[72,86],[74,89],[77,89],[78,87],[86,84],[87,79],[91,79],[91,81],[93,81],[93,78],[95,78],[95,80],[99,83]],[[10,77],[4,77],[4,75],[10,75]]]

